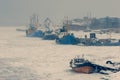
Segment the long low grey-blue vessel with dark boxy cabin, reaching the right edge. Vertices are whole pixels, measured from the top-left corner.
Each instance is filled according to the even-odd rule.
[[[95,33],[90,33],[90,38],[79,38],[79,44],[84,46],[120,46],[119,39],[98,39]]]

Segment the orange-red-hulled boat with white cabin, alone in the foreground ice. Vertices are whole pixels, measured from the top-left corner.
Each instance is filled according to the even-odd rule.
[[[88,60],[85,60],[84,58],[74,58],[70,62],[70,67],[72,70],[78,73],[92,73],[94,71],[94,68],[92,66],[92,63]]]

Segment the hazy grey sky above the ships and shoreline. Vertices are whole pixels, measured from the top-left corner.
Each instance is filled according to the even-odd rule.
[[[57,22],[64,16],[82,18],[88,12],[93,17],[120,17],[120,0],[0,0],[0,26],[27,25],[33,13],[41,21],[49,17]]]

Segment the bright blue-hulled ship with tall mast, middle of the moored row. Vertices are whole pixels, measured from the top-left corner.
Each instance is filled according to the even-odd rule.
[[[79,43],[79,39],[76,38],[73,33],[70,33],[68,31],[69,31],[69,25],[68,25],[68,20],[66,20],[63,23],[63,27],[60,29],[58,38],[56,39],[57,44],[75,45]]]

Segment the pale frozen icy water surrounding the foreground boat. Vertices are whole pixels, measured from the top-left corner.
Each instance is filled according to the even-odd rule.
[[[57,45],[55,41],[25,37],[17,28],[0,27],[0,80],[120,80],[120,72],[82,74],[69,67],[69,61],[82,54],[100,65],[107,60],[119,62],[119,46]]]

